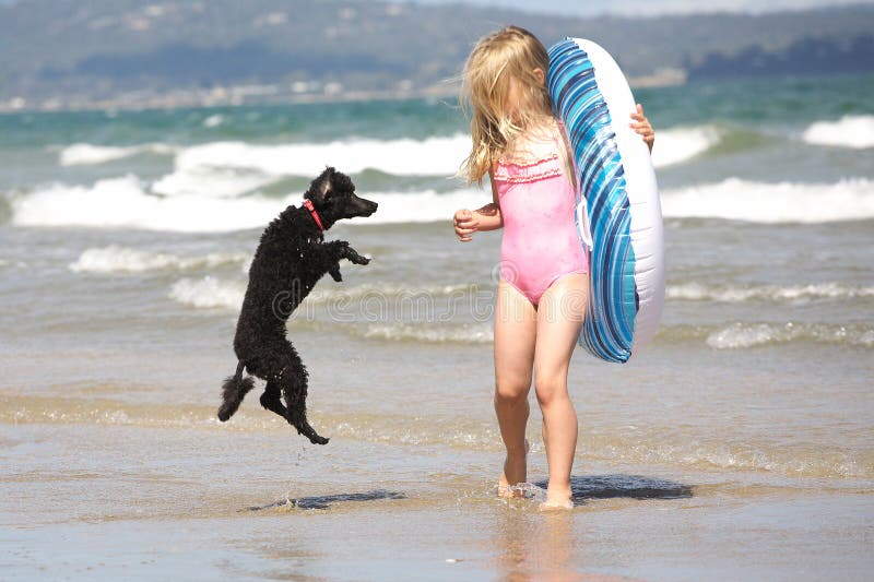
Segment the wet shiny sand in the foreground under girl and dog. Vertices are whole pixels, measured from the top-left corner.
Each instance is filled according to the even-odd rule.
[[[862,580],[874,566],[865,487],[589,463],[576,509],[540,513],[496,499],[477,476],[491,459],[462,448],[288,437],[0,425],[0,575]]]

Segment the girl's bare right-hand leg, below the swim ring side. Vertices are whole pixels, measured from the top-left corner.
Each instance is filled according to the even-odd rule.
[[[567,371],[582,328],[588,282],[586,274],[562,277],[543,294],[538,309],[534,387],[550,465],[546,508],[572,507],[570,468],[577,449],[577,413],[567,391]]]

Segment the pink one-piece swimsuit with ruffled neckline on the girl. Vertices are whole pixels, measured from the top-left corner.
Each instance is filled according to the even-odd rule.
[[[499,161],[493,180],[504,219],[500,277],[536,307],[560,277],[589,272],[574,222],[574,186],[557,153],[530,164]]]

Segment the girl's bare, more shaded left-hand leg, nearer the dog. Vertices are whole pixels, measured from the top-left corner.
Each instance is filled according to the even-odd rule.
[[[507,448],[499,487],[524,483],[528,392],[534,364],[536,311],[512,285],[498,284],[495,309],[495,413]]]

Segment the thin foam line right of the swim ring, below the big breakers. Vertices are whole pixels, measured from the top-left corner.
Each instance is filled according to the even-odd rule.
[[[874,287],[853,287],[838,283],[817,283],[811,285],[763,285],[763,286],[712,286],[702,283],[670,285],[665,296],[669,299],[687,301],[743,302],[748,300],[805,301],[810,299],[852,299],[874,297]]]

